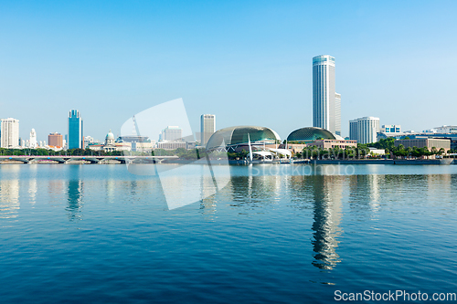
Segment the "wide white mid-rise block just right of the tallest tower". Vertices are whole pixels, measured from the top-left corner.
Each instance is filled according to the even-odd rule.
[[[349,121],[349,139],[358,143],[377,142],[379,119],[377,117],[361,117]]]

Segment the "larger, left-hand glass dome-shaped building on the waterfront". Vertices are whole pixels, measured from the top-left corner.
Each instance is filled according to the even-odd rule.
[[[207,150],[226,150],[228,152],[249,151],[252,146],[276,144],[281,142],[277,132],[267,127],[238,126],[216,131],[207,141]]]

